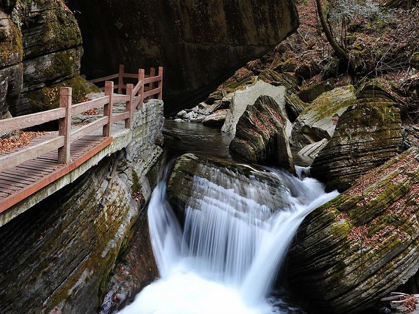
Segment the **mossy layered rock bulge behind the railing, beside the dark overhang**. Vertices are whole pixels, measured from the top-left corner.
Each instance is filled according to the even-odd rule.
[[[73,87],[71,79],[80,75],[83,53],[80,29],[64,2],[30,1],[24,14],[27,17],[27,22],[22,23],[24,82],[19,105],[10,107],[13,116],[57,107],[58,101],[50,102],[59,98],[59,87],[54,85]]]

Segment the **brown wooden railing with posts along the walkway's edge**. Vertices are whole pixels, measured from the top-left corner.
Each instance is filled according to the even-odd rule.
[[[127,73],[125,73],[127,75]],[[0,171],[9,167],[15,167],[27,160],[31,160],[49,151],[58,149],[58,163],[70,163],[70,144],[84,135],[91,134],[94,130],[102,128],[104,137],[111,136],[111,126],[117,121],[125,121],[125,128],[132,126],[133,110],[139,105],[142,106],[144,98],[157,95],[161,99],[163,84],[163,68],[159,68],[159,75],[151,73],[145,77],[145,70],[138,70],[138,83],[126,84],[125,95],[114,94],[115,84],[112,81],[105,81],[105,96],[84,103],[72,105],[71,87],[61,87],[59,108],[27,114],[21,117],[0,120],[0,135],[12,132],[13,130],[22,130],[38,126],[49,121],[59,121],[58,136],[50,140],[36,144],[20,151],[0,156]],[[109,78],[109,77],[105,77]],[[101,80],[101,79],[98,79]],[[98,81],[100,82],[100,81]],[[157,87],[154,88],[154,84]],[[147,85],[147,91],[145,91]],[[121,84],[120,86],[124,86]],[[125,103],[125,112],[114,114],[112,112],[114,103]],[[103,117],[93,121],[78,129],[71,130],[71,117],[94,108],[103,107]]]

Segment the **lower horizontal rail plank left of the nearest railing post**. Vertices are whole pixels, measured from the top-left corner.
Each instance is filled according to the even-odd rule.
[[[15,167],[24,163],[27,160],[31,160],[42,154],[52,151],[52,149],[58,149],[64,145],[64,136],[54,137],[52,140],[47,140],[40,144],[36,144],[31,147],[26,147],[20,151],[15,152],[13,155],[0,156],[0,171]]]

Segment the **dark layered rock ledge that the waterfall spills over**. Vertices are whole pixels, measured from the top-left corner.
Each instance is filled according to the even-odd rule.
[[[244,202],[243,200],[229,196],[229,190],[250,198],[252,203],[255,202],[254,204],[267,204],[271,211],[289,206],[288,201],[283,197],[284,185],[286,186],[287,183],[269,172],[258,171],[244,164],[230,164],[193,154],[184,154],[173,164],[167,181],[168,198],[177,212],[179,221],[184,221],[186,207],[200,209],[204,201],[200,200],[199,195],[194,195],[197,190],[196,184],[205,188],[212,184],[221,187],[217,190],[225,195],[217,198],[235,209],[245,210],[249,207],[248,204],[240,204]],[[261,191],[260,198],[255,198],[255,193],[243,195],[247,190],[254,189]],[[271,203],[268,204],[268,202]],[[263,215],[263,212],[260,214]],[[265,214],[270,216],[270,212]]]

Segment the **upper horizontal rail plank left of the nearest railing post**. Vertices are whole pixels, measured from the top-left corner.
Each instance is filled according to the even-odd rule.
[[[38,126],[45,124],[45,122],[57,120],[65,117],[66,110],[64,108],[57,108],[34,114],[27,114],[22,117],[15,117],[10,119],[0,120],[0,134],[8,133],[13,130],[22,130],[22,128],[30,128],[31,126]]]

